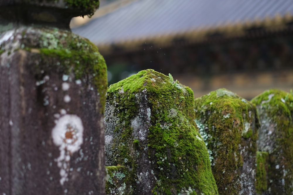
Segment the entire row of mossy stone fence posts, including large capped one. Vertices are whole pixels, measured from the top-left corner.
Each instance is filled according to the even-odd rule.
[[[69,29],[98,5],[0,0],[1,195],[292,194],[292,92],[194,100],[151,69],[107,90]]]

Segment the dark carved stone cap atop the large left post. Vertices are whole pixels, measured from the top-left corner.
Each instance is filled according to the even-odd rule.
[[[0,24],[69,29],[71,18],[93,15],[98,8],[99,0],[0,0]]]

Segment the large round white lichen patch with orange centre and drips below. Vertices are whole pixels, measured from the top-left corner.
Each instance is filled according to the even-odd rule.
[[[60,184],[68,180],[70,156],[80,149],[83,143],[84,127],[77,115],[64,115],[56,121],[52,130],[53,143],[59,147],[60,156],[55,160],[60,168]]]

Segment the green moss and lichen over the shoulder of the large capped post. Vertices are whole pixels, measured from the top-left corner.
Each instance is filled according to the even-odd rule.
[[[33,63],[35,67],[32,71],[36,77],[41,77],[42,71],[58,70],[68,75],[74,73],[76,80],[86,79],[88,83],[95,85],[100,95],[101,111],[104,112],[108,86],[107,67],[103,56],[93,43],[71,32],[55,28],[22,27],[15,33],[23,35],[19,40],[21,48],[11,48],[6,51],[8,55],[19,49],[29,52],[32,61],[40,61],[38,64]],[[1,45],[0,50],[5,51],[4,48],[5,43]]]

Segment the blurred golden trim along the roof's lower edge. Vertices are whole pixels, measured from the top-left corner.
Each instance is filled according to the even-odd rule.
[[[243,37],[247,30],[252,28],[264,27],[267,32],[278,32],[287,28],[286,24],[293,22],[293,15],[286,14],[283,17],[279,14],[274,17],[267,17],[264,20],[255,18],[255,20],[246,20],[238,23],[226,23],[218,26],[206,26],[191,29],[184,32],[168,33],[152,37],[134,37],[130,40],[121,40],[115,43],[116,48],[122,48],[125,51],[135,51],[147,44],[154,44],[156,47],[168,47],[172,45],[176,38],[184,38],[188,43],[201,43],[209,40],[210,34],[221,34],[222,38]],[[104,54],[113,50],[113,44],[97,44]]]

